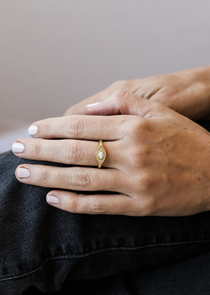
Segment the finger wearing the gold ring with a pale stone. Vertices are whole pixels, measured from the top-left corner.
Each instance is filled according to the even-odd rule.
[[[13,152],[23,159],[33,159],[38,161],[54,161],[56,163],[97,166],[95,153],[98,143],[95,141],[79,140],[59,140],[50,141],[39,138],[19,138],[13,143]],[[116,168],[116,164],[121,162],[121,156],[113,153],[120,147],[116,141],[104,143],[106,149],[106,160],[103,166]],[[113,160],[114,159],[114,160]]]

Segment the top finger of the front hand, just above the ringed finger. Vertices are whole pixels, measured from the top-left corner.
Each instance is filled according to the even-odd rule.
[[[115,141],[125,136],[122,116],[102,117],[72,115],[35,122],[29,127],[34,138],[69,138],[92,141]]]

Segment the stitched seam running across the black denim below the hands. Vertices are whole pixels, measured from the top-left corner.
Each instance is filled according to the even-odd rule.
[[[45,259],[43,261],[43,263],[41,264],[41,266],[36,268],[34,271],[30,271],[29,273],[25,273],[23,275],[9,275],[10,278],[3,278],[3,277],[8,276],[8,275],[5,275],[5,276],[1,277],[2,279],[0,278],[0,282],[6,281],[6,280],[18,279],[18,278],[25,277],[27,275],[31,275],[32,273],[36,273],[36,271],[39,271],[43,267],[43,264],[45,264],[45,262],[50,261],[50,260],[83,258],[83,257],[90,256],[92,254],[97,254],[97,253],[106,252],[106,251],[116,251],[116,250],[131,251],[131,250],[144,249],[144,248],[148,248],[148,247],[175,246],[175,245],[184,245],[184,244],[193,244],[193,243],[208,243],[208,242],[210,242],[210,239],[209,240],[189,240],[186,242],[175,242],[175,243],[150,244],[150,245],[143,245],[143,246],[138,246],[138,247],[110,247],[110,248],[104,248],[101,250],[95,250],[95,251],[88,252],[85,254],[78,254],[78,255],[72,254],[72,255],[66,255],[66,256],[50,257],[50,258]]]

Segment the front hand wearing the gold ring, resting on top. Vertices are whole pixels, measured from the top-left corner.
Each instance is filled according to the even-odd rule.
[[[36,122],[34,139],[16,141],[24,145],[24,151],[13,147],[18,157],[75,167],[24,164],[16,170],[17,179],[84,191],[48,194],[48,203],[71,213],[179,216],[209,210],[209,133],[205,129],[161,103],[123,91],[89,113],[94,115]],[[99,139],[105,141],[107,152],[100,169],[94,157]],[[99,190],[120,194],[87,194]]]

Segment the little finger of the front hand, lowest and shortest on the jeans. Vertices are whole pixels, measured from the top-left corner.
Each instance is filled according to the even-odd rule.
[[[64,191],[52,191],[46,196],[46,201],[56,208],[94,215],[134,215],[131,199],[125,194],[83,195]]]

